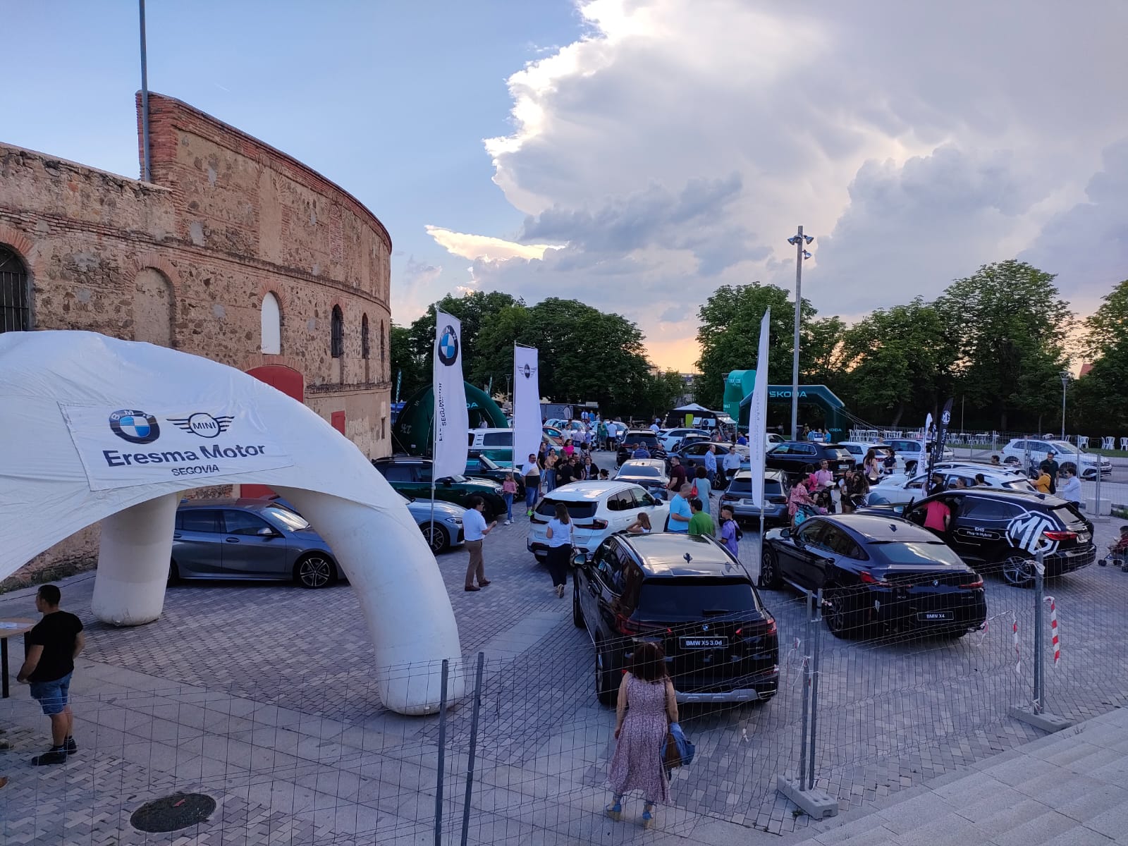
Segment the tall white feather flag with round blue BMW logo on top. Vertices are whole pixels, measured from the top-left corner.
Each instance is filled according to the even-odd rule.
[[[461,476],[469,455],[470,415],[462,381],[462,324],[457,317],[435,312],[434,365],[434,478]]]

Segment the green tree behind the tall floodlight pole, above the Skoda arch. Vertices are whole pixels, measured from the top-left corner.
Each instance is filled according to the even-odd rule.
[[[695,399],[706,408],[720,408],[724,398],[724,377],[731,370],[756,368],[760,340],[760,320],[770,307],[770,356],[768,380],[791,384],[792,350],[794,350],[795,307],[787,291],[777,285],[754,282],[750,285],[721,285],[700,307],[697,343],[702,354],[697,360],[700,377],[694,380]],[[800,309],[800,350],[804,334],[810,336],[814,308],[804,299]],[[821,327],[820,327],[821,328]],[[820,350],[826,355],[825,350]],[[801,355],[800,369],[803,368]]]

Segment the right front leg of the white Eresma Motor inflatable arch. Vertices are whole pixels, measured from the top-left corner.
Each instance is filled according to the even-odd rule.
[[[384,705],[400,714],[437,712],[443,659],[450,659],[448,702],[461,698],[466,678],[455,613],[434,555],[406,509],[399,515],[314,491],[274,490],[317,527],[356,591],[376,646]]]

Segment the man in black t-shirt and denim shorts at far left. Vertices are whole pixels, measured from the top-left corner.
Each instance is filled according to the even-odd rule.
[[[35,608],[43,619],[24,636],[27,658],[16,676],[17,681],[30,685],[32,696],[51,719],[51,750],[32,758],[32,764],[37,766],[63,764],[68,755],[78,751],[71,735],[74,714],[68,695],[74,659],[86,646],[86,635],[82,634],[82,620],[59,610],[61,599],[62,593],[54,584],[44,584],[36,591]]]

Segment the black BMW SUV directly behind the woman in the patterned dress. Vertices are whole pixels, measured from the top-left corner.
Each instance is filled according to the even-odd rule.
[[[710,537],[613,535],[576,557],[572,620],[596,645],[596,696],[615,702],[635,645],[658,642],[678,702],[765,702],[779,686],[775,618]]]

